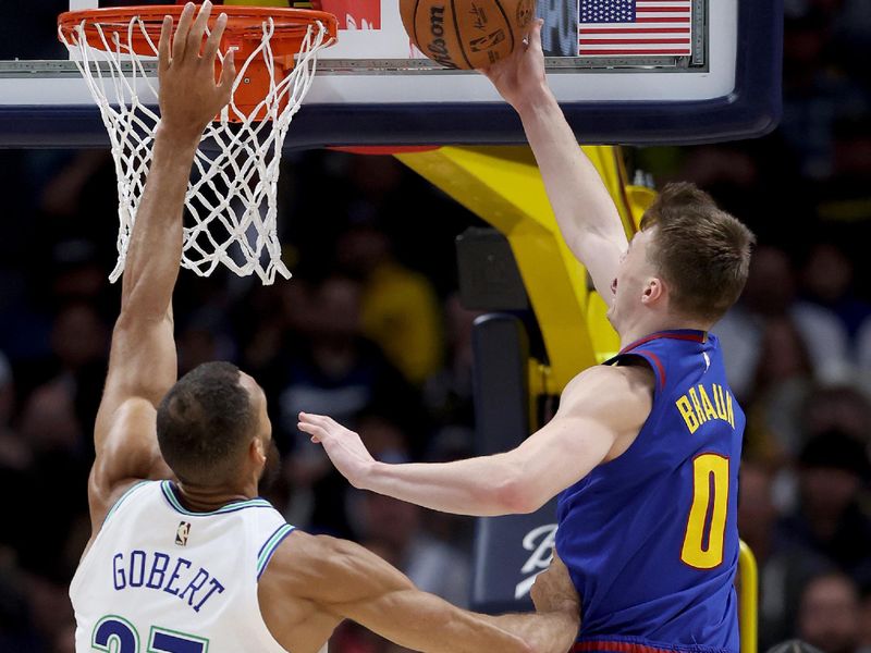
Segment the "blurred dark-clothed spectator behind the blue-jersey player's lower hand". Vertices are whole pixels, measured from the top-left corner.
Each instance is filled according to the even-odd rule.
[[[289,453],[285,476],[293,485],[289,520],[339,537],[351,534],[346,483],[320,447],[310,446],[308,436],[296,431],[299,411],[326,407],[354,424],[365,411],[383,408],[401,423],[409,423],[419,411],[414,389],[363,336],[360,292],[360,284],[349,278],[323,280],[311,294],[308,337],[286,340],[263,377],[272,397],[273,429]],[[425,441],[417,443],[417,449],[424,446]]]

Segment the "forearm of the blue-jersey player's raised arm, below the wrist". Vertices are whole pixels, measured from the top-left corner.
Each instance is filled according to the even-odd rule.
[[[585,262],[581,242],[590,233],[625,239],[614,201],[550,89],[531,94],[517,111],[560,231],[575,256]]]

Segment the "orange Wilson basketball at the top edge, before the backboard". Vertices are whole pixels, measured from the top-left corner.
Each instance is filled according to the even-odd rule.
[[[535,0],[400,0],[412,42],[453,69],[483,69],[517,47],[536,13]]]

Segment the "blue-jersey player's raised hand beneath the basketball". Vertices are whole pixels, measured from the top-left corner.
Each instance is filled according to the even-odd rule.
[[[548,88],[541,49],[542,24],[541,19],[533,21],[524,44],[515,48],[511,57],[481,71],[517,111]]]

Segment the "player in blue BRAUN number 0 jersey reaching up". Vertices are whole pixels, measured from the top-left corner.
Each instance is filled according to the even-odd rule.
[[[565,387],[514,451],[438,465],[372,460],[299,416],[357,488],[465,515],[531,513],[559,494],[556,552],[581,601],[574,651],[737,653],[738,463],[745,417],[711,326],[738,298],[753,235],[688,184],[627,243],[544,77],[541,25],[487,72],[515,108],[566,244],[609,304],[622,349]]]

